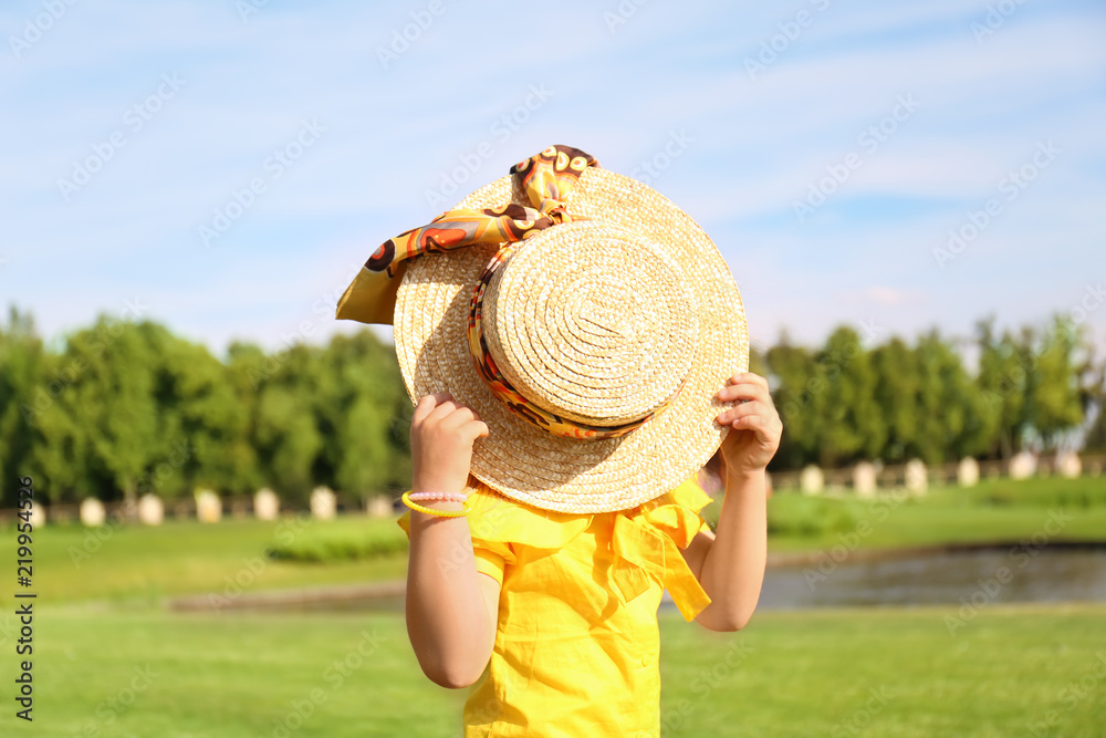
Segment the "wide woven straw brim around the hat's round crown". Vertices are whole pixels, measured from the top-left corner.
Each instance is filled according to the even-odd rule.
[[[480,188],[457,207],[508,202],[530,205],[512,176]],[[714,395],[729,377],[749,367],[744,308],[724,259],[702,228],[647,185],[587,167],[568,193],[566,208],[573,217],[614,224],[664,248],[698,298],[695,360],[664,410],[619,438],[576,439],[553,435],[497,399],[466,342],[473,285],[494,246],[428,253],[407,262],[396,294],[396,355],[413,399],[448,392],[488,424],[490,435],[473,446],[473,477],[542,509],[624,510],[675,489],[726,437],[728,427],[714,418],[731,403],[720,403]]]

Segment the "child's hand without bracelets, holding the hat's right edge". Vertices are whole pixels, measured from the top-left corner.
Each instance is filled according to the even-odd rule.
[[[749,474],[766,467],[780,448],[783,433],[768,381],[752,372],[735,374],[717,397],[722,402],[747,401],[723,410],[717,418],[720,425],[731,428],[722,441],[726,474]]]

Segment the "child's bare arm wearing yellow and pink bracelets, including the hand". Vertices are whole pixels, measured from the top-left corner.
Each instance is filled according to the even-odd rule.
[[[472,444],[488,426],[447,393],[419,399],[411,422],[413,491],[460,492],[466,488]],[[424,507],[460,510],[459,502]],[[442,687],[480,678],[491,657],[499,614],[499,583],[476,569],[465,516],[441,518],[411,511],[407,570],[407,635],[422,672]]]

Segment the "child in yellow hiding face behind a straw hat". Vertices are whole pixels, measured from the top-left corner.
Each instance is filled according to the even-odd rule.
[[[394,310],[418,397],[408,634],[431,680],[476,685],[466,736],[659,736],[661,593],[749,621],[782,425],[690,217],[568,147],[511,174],[385,242],[338,306]]]

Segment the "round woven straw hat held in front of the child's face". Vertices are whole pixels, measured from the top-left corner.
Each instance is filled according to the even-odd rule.
[[[410,397],[449,392],[490,428],[473,447],[472,476],[538,508],[607,512],[675,489],[713,455],[728,430],[714,418],[731,405],[713,396],[747,371],[748,329],[726,261],[690,216],[591,157],[577,166],[582,152],[543,155],[563,164],[565,152],[578,178],[547,188],[563,219],[513,243],[410,258],[388,268],[385,287],[359,276],[337,316],[386,322],[371,315],[395,295]],[[535,199],[514,174],[455,210],[551,211]]]

